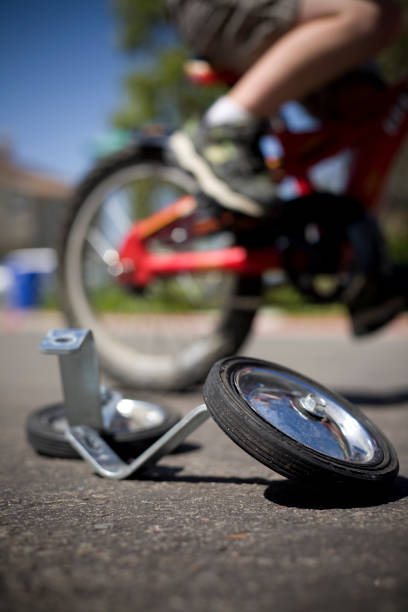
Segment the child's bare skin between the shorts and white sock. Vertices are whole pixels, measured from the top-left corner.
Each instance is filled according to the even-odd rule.
[[[241,77],[228,97],[255,117],[272,116],[375,56],[399,32],[393,0],[300,0],[297,23]]]

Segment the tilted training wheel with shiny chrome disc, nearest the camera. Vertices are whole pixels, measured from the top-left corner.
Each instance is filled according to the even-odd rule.
[[[283,366],[241,357],[219,361],[204,398],[236,444],[287,478],[375,488],[398,474],[390,442],[361,410]]]

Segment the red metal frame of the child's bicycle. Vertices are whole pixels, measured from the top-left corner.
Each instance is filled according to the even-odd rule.
[[[375,117],[367,120],[330,122],[305,133],[293,133],[286,127],[275,132],[283,155],[279,160],[267,160],[272,174],[292,177],[298,195],[313,193],[315,190],[309,178],[311,168],[341,151],[351,150],[353,161],[344,195],[359,201],[366,209],[374,209],[391,164],[408,133],[408,80],[385,89],[376,104]],[[187,195],[135,223],[119,249],[120,282],[143,287],[157,276],[182,272],[222,269],[260,275],[268,269],[282,267],[281,254],[273,245],[262,249],[233,246],[173,253],[149,249],[151,240],[169,239],[176,227],[185,228],[192,239],[225,227],[222,218],[201,219],[197,211],[195,198]]]

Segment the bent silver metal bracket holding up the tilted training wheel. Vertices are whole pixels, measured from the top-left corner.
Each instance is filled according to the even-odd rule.
[[[65,436],[73,448],[105,478],[128,478],[147,463],[174,450],[209,417],[202,404],[176,423],[131,463],[123,461],[102,438],[122,396],[101,387],[92,331],[59,329],[49,331],[40,351],[57,355],[65,397],[68,427]],[[135,402],[137,403],[137,401]]]

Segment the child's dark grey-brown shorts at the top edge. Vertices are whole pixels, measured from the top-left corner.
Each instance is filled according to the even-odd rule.
[[[184,42],[214,67],[242,74],[291,29],[298,0],[166,0]]]

